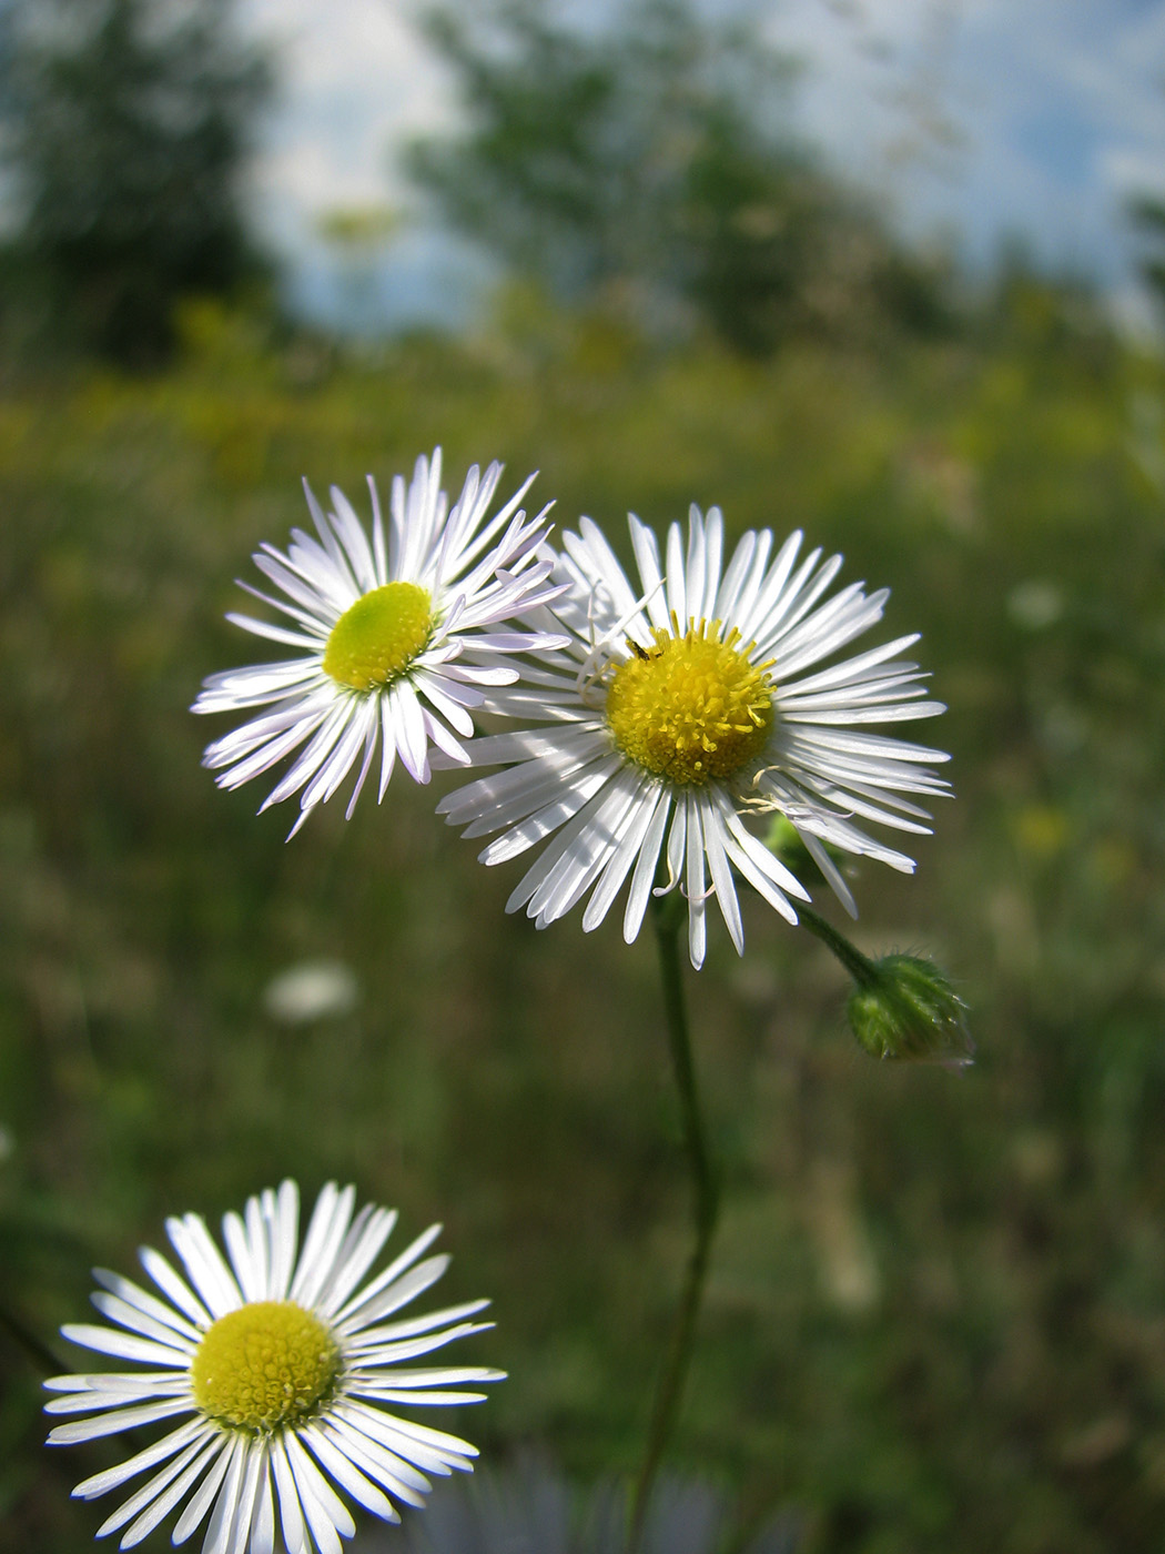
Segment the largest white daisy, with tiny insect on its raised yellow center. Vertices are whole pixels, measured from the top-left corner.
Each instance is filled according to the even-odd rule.
[[[718,508],[707,521],[691,508],[687,553],[679,524],[671,525],[665,564],[652,531],[634,514],[629,522],[635,587],[590,519],[565,535],[558,575],[570,591],[555,612],[570,648],[539,654],[523,684],[491,698],[544,727],[475,740],[474,765],[508,769],[457,789],[440,811],[466,836],[502,831],[482,853],[486,864],[556,833],[506,908],[525,906],[539,928],[587,892],[582,928],[596,928],[631,875],[628,942],[652,887],[679,886],[691,963],[704,962],[711,895],[742,951],[733,870],[791,923],[789,898],[809,900],[749,830],[749,816],[764,811],[789,817],[856,915],[826,848],[913,870],[910,858],[859,822],[926,833],[929,814],[902,794],[948,786],[927,769],[946,760],[941,751],[850,727],[944,710],[920,699],[926,676],[895,657],[918,637],[836,660],[881,618],[889,591],[865,594],[851,583],[826,600],[842,558],[822,563],[814,550],[798,566],[800,533],[772,558],[772,531],[750,531],[722,570]],[[660,858],[666,883],[656,886]]]

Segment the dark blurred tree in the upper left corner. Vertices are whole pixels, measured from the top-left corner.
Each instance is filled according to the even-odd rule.
[[[183,295],[261,266],[241,174],[270,67],[231,0],[16,0],[5,160],[22,225],[9,274],[67,342],[163,362]]]

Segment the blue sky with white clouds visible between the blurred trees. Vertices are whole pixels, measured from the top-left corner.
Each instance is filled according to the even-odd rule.
[[[620,0],[614,0],[615,5]],[[719,11],[739,0],[708,0]],[[749,6],[805,62],[795,123],[901,227],[986,263],[1019,236],[1143,314],[1120,213],[1165,194],[1165,0],[774,0]],[[457,123],[410,0],[242,0],[273,39],[283,99],[256,168],[263,221],[298,294],[336,306],[320,216],[409,205],[393,151]],[[474,270],[410,224],[367,303],[387,315],[464,297]]]

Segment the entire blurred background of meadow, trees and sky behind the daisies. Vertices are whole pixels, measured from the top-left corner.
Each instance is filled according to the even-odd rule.
[[[186,712],[300,477],[441,443],[620,542],[805,527],[951,707],[859,942],[943,959],[975,1066],[870,1061],[755,901],[691,979],[727,1203],[671,1465],[812,1554],[1160,1546],[1165,5],[0,20],[0,1545],[99,1520],[120,1445],[40,1447],[30,1354],[89,1267],[286,1173],[446,1223],[486,1461],[637,1461],[688,1214],[649,940],[505,917],[441,783],[284,845]]]

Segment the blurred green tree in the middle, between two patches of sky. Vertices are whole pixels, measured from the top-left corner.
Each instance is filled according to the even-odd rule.
[[[607,25],[556,0],[435,0],[426,28],[469,129],[412,148],[446,218],[570,303],[651,328],[707,320],[741,351],[887,308],[941,315],[938,278],[789,131],[794,61],[688,0]],[[843,317],[839,317],[843,315]]]

